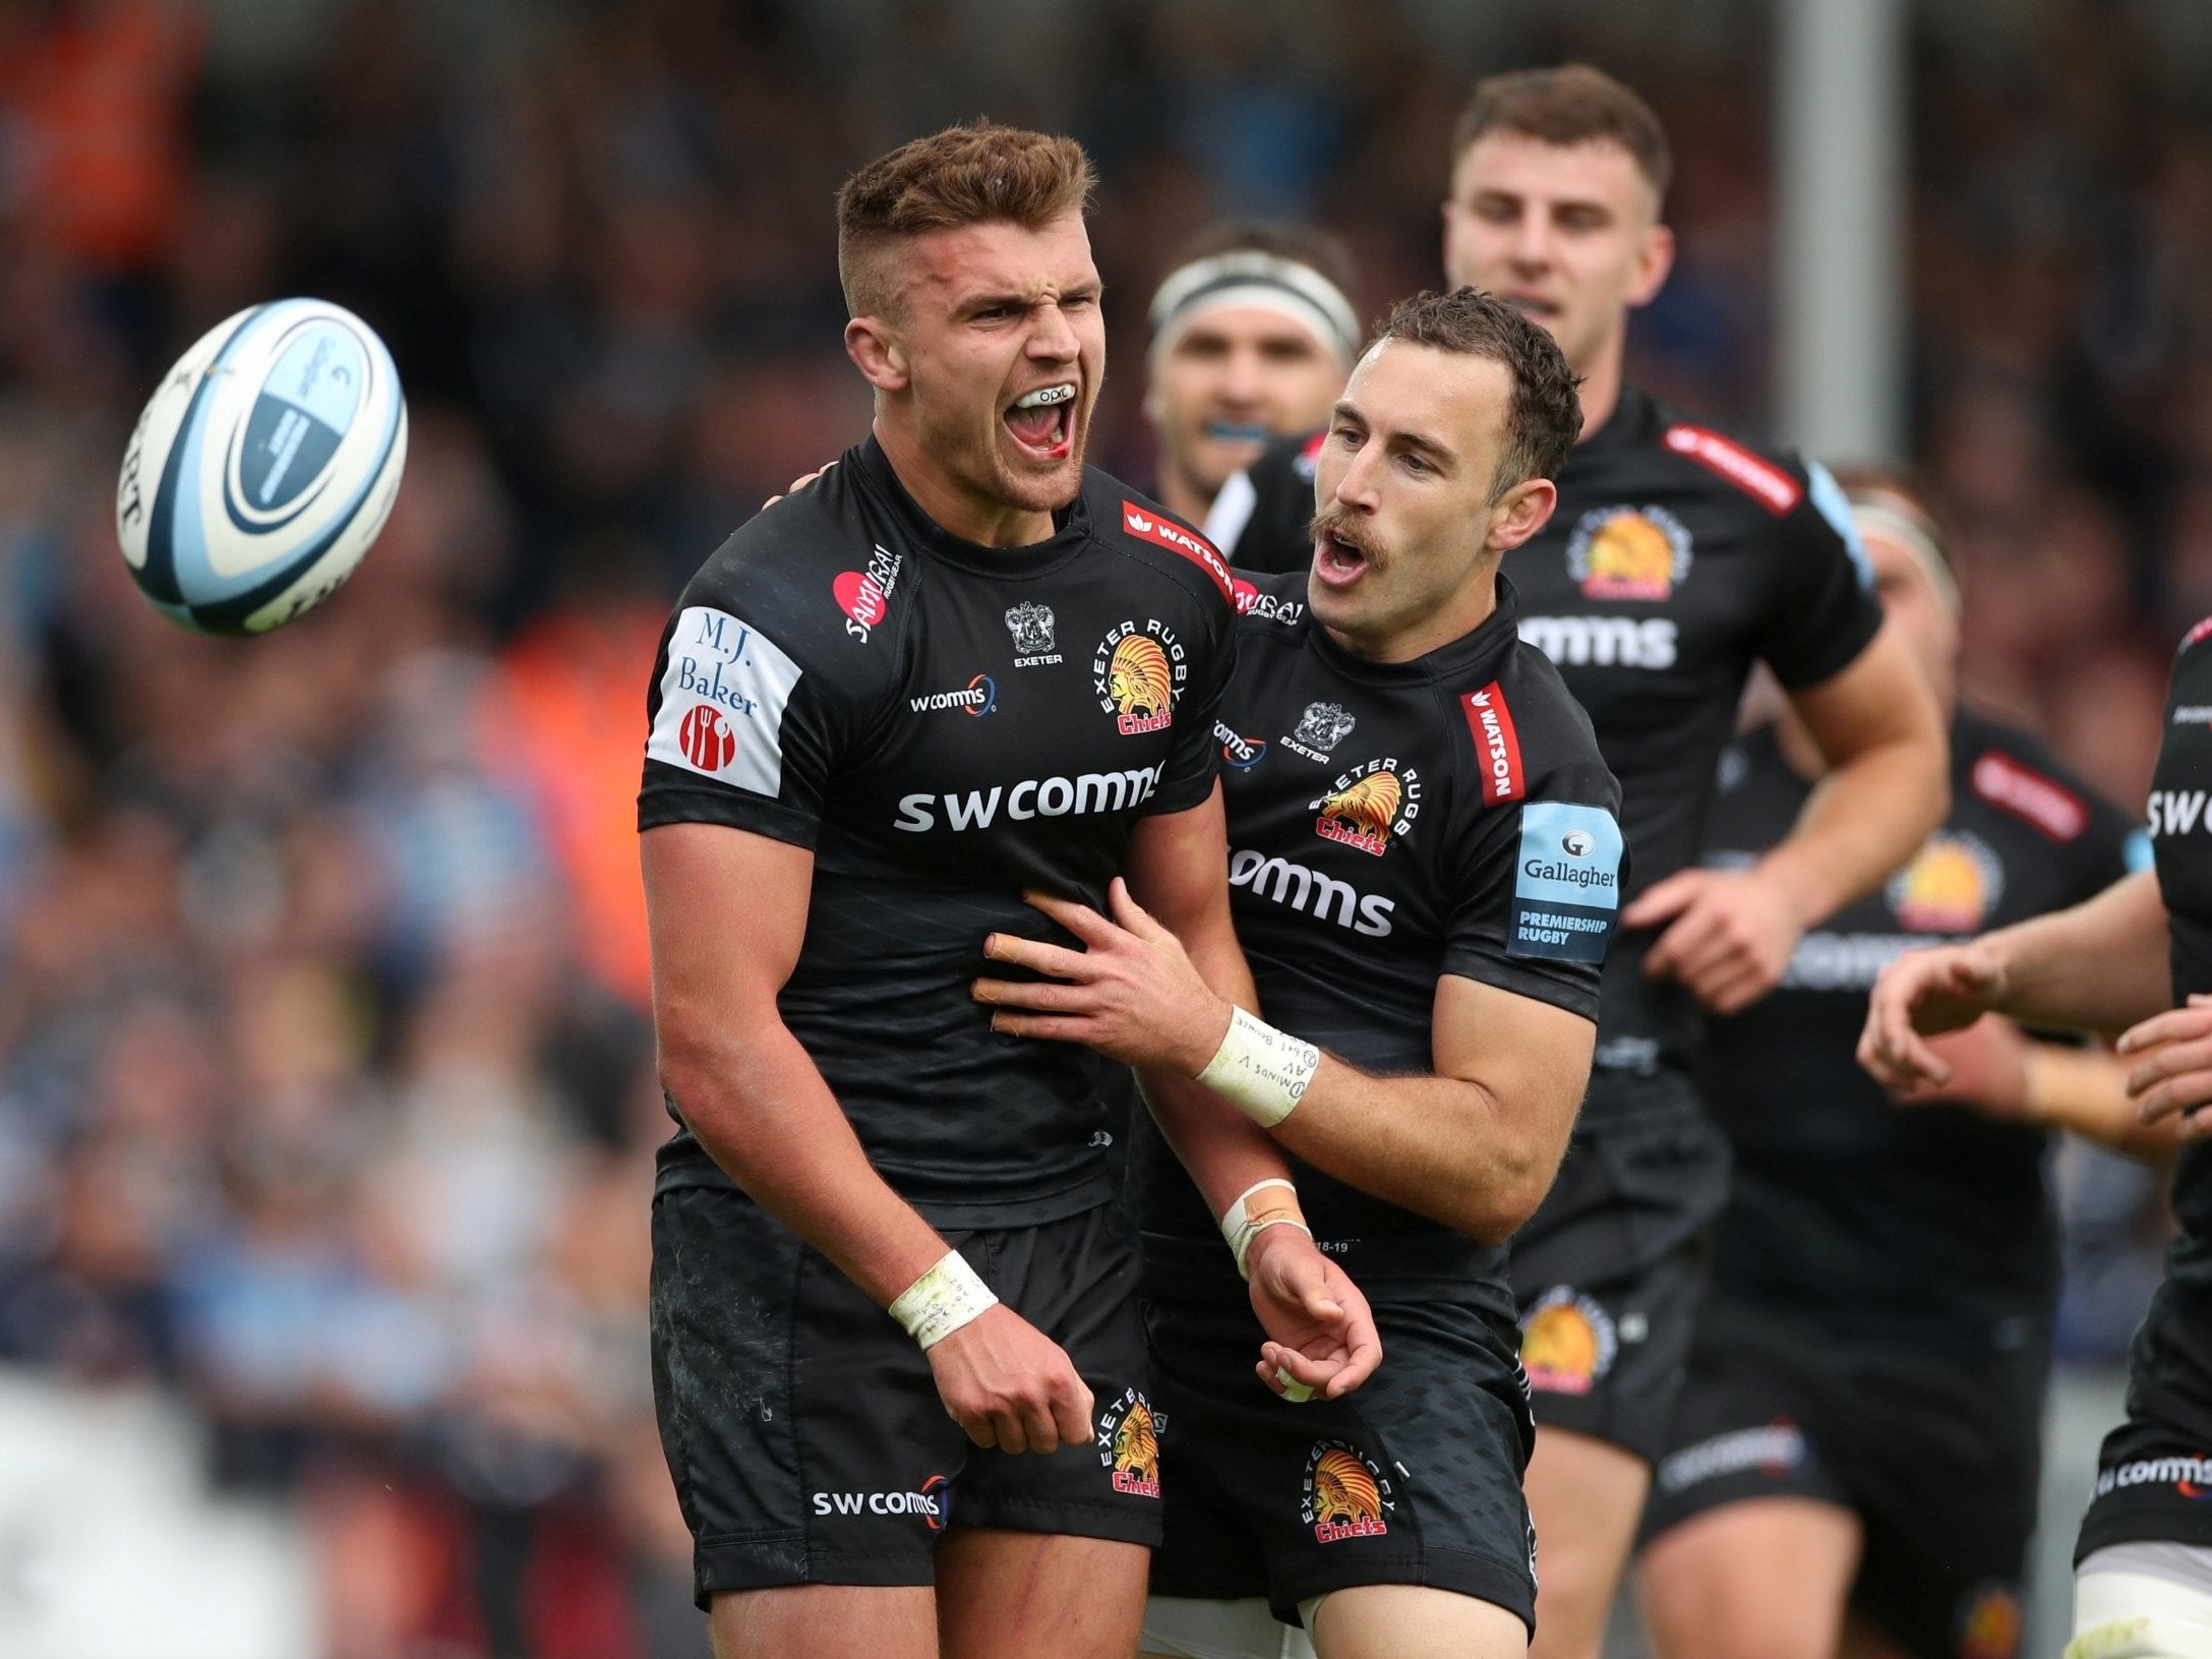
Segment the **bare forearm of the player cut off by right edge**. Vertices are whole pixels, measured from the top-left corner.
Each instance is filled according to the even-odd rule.
[[[1995,1011],[2022,1024],[2117,1035],[2174,1004],[2166,900],[2148,869],[1980,942],[2004,969]]]

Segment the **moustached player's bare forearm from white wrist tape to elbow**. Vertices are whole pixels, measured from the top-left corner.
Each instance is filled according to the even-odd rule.
[[[1562,1057],[1546,1093],[1517,1102],[1460,1077],[1378,1077],[1323,1055],[1305,1099],[1274,1137],[1338,1181],[1482,1243],[1504,1243],[1551,1190],[1573,1102],[1590,1075]]]

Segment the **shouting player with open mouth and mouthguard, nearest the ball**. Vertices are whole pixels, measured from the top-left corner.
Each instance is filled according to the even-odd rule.
[[[1212,737],[1230,577],[1082,462],[1091,186],[1071,139],[995,126],[847,181],[872,436],[701,566],[655,664],[639,827],[679,1130],[650,1332],[721,1659],[1137,1637],[1161,1436],[1099,1066],[967,995],[984,931],[1066,938],[1024,889],[1104,902],[1124,872],[1250,998]],[[1188,1079],[1155,1099],[1203,1119],[1223,1208],[1287,1168]],[[1272,1228],[1250,1267],[1283,1376],[1374,1367],[1310,1239]]]

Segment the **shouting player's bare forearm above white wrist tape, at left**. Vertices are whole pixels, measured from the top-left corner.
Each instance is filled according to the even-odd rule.
[[[945,1254],[936,1228],[876,1175],[781,1022],[741,1044],[664,1031],[661,1086],[730,1179],[878,1307]]]

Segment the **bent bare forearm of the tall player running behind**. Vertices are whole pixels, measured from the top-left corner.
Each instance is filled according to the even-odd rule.
[[[1832,770],[1759,874],[1790,896],[1798,927],[1865,898],[1933,834],[1949,807],[1942,734],[1874,743]]]

